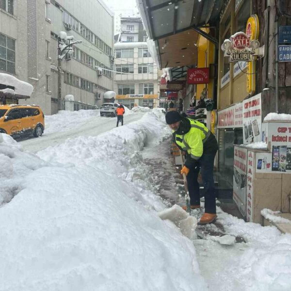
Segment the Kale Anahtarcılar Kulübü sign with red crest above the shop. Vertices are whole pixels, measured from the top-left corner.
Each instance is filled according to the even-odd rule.
[[[229,62],[251,62],[254,56],[263,55],[263,47],[259,47],[259,41],[251,40],[250,35],[244,32],[237,32],[230,39],[226,39],[221,49],[225,52],[224,56],[229,57]]]

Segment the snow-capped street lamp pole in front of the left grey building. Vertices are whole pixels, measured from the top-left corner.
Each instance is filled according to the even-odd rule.
[[[74,40],[74,36],[67,36],[66,32],[59,32],[58,37],[58,111],[64,110],[64,104],[62,101],[62,60],[65,56],[71,56],[73,54],[72,46],[74,44],[80,44],[81,40]]]

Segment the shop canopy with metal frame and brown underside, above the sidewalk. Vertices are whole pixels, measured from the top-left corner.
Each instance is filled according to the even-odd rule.
[[[137,0],[137,3],[149,38],[154,41],[159,66],[164,68],[196,65],[195,44],[199,33],[205,35],[200,28],[215,24],[224,0]]]

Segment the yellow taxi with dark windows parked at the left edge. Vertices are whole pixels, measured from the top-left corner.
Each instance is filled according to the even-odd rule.
[[[45,115],[39,106],[0,105],[0,132],[13,137],[33,134],[39,137],[45,129]]]

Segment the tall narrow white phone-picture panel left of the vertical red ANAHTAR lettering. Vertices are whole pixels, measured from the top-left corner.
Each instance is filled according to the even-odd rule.
[[[238,209],[245,217],[246,211],[246,169],[247,169],[247,149],[234,146],[233,158],[233,200]]]

